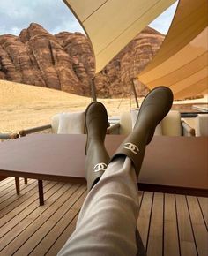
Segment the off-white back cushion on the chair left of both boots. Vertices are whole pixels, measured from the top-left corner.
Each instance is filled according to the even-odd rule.
[[[52,118],[52,130],[58,134],[83,134],[85,132],[84,117],[85,112],[58,114]]]

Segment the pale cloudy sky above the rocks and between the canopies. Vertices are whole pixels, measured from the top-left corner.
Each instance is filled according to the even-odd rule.
[[[177,2],[155,19],[150,26],[167,34]],[[62,31],[82,32],[82,27],[62,0],[0,0],[0,35],[15,34],[35,22],[51,34]]]

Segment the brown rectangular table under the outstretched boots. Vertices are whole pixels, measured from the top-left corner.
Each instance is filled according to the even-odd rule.
[[[0,144],[0,175],[85,184],[85,135],[35,134]],[[110,155],[123,135],[107,135]],[[138,178],[142,189],[208,189],[208,138],[155,136]],[[152,186],[152,188],[150,187]]]

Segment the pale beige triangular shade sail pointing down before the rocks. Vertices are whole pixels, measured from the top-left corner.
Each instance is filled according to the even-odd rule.
[[[63,0],[92,42],[100,72],[145,26],[175,0]]]

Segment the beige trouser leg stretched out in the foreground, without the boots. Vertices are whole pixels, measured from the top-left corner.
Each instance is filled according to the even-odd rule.
[[[116,158],[85,198],[76,230],[58,255],[136,255],[138,209],[130,158]]]

